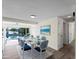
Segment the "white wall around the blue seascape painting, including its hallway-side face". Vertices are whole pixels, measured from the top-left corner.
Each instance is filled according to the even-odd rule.
[[[60,24],[58,24],[58,20],[60,21]],[[38,24],[39,26],[51,25],[51,34],[50,35],[43,35],[43,34],[40,34],[40,35],[46,36],[47,40],[49,40],[48,46],[55,50],[58,50],[59,48],[61,48],[63,46],[63,41],[61,38],[59,38],[59,35],[62,35],[61,34],[62,22],[63,22],[62,19],[59,19],[56,17],[56,18],[51,18],[51,19],[41,21]],[[59,35],[58,35],[58,33],[59,33]]]

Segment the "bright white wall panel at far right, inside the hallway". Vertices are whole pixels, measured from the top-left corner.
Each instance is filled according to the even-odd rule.
[[[69,43],[75,39],[75,22],[69,23]]]

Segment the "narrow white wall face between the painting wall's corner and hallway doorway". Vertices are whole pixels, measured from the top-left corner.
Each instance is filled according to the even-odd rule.
[[[63,47],[63,19],[62,18],[57,18],[58,19],[58,49]]]

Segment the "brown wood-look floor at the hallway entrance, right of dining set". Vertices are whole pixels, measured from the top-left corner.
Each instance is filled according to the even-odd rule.
[[[53,57],[52,59],[75,59],[75,49],[71,45],[64,45]]]

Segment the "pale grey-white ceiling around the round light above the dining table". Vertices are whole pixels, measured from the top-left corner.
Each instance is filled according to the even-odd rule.
[[[2,16],[40,22],[75,10],[75,0],[2,0]],[[36,15],[32,19],[30,15]]]

